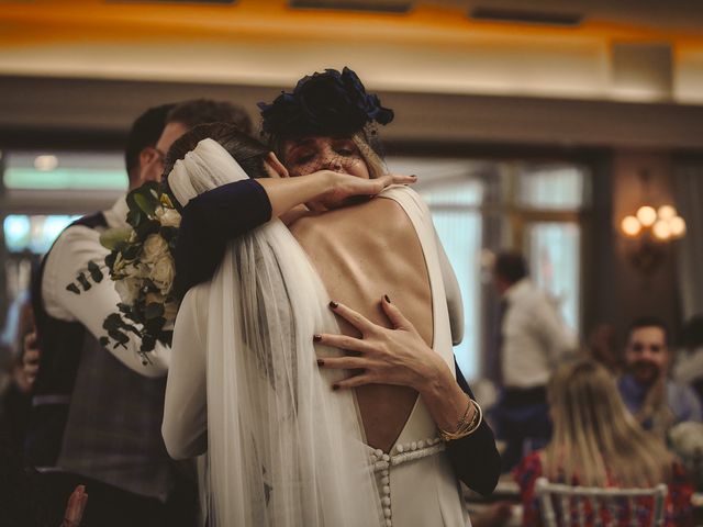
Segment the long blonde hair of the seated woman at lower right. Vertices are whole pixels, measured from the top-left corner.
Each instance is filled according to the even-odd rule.
[[[650,486],[669,480],[671,456],[629,414],[603,366],[582,359],[560,367],[547,396],[554,435],[545,473],[551,481]]]

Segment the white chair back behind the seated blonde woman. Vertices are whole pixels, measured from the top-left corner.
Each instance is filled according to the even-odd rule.
[[[624,518],[632,527],[663,527],[668,492],[663,483],[651,489],[601,489],[539,478],[536,492],[545,527],[617,527]]]

